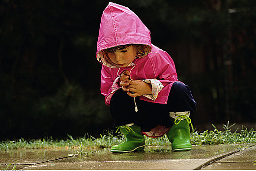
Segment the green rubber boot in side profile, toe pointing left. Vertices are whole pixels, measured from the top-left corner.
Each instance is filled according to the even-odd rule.
[[[144,150],[145,139],[141,134],[141,127],[132,125],[131,127],[120,126],[118,128],[120,128],[121,133],[125,135],[125,141],[121,144],[114,145],[111,148],[111,152],[132,152]]]

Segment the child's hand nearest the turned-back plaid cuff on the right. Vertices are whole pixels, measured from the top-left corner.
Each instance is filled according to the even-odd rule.
[[[131,97],[137,97],[137,96],[142,96],[144,94],[152,94],[152,86],[151,84],[147,84],[141,80],[128,80],[129,86],[127,86],[127,89],[131,92],[134,93],[130,93],[129,91],[127,92],[127,94]]]

